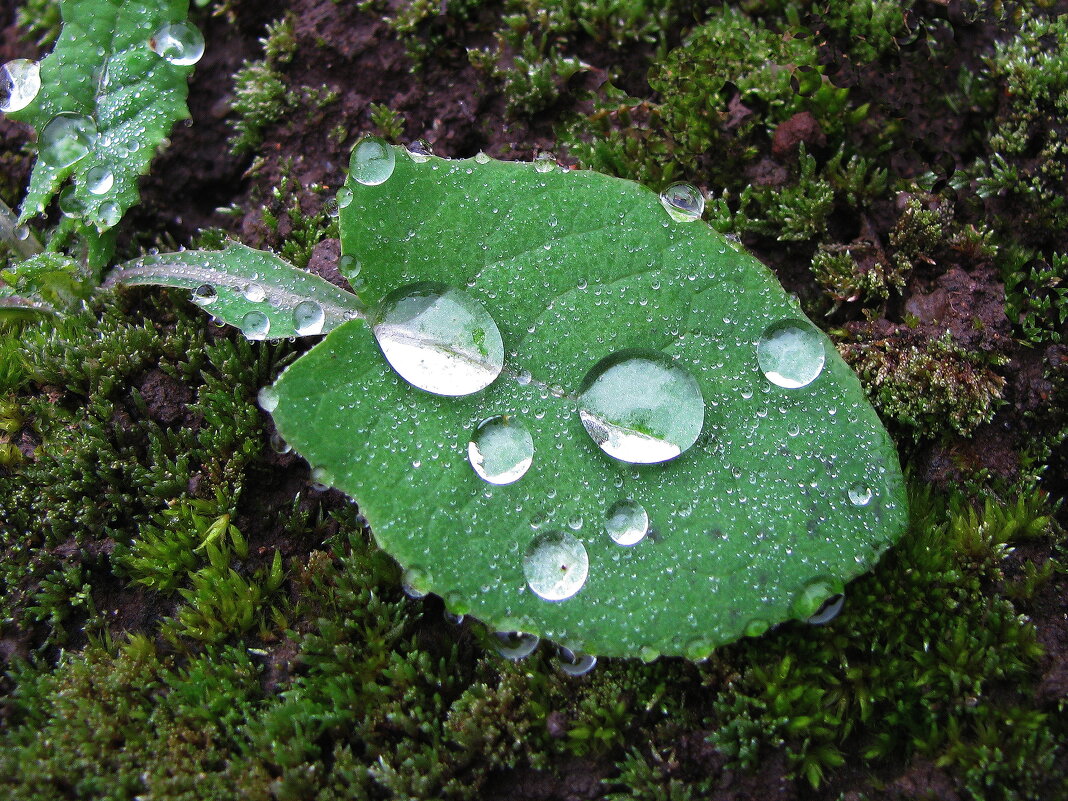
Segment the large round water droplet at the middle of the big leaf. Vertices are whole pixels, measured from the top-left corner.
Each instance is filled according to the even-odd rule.
[[[609,456],[635,465],[673,459],[693,445],[705,402],[693,377],[663,354],[621,350],[586,375],[579,418]]]

